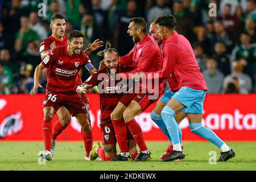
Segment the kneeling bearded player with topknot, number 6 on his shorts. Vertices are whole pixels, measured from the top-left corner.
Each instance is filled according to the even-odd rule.
[[[104,63],[106,67],[104,69],[100,69],[85,81],[84,87],[78,86],[77,92],[84,93],[88,88],[92,88],[93,86],[98,85],[98,90],[100,93],[100,108],[101,108],[101,131],[102,131],[102,143],[103,148],[100,147],[100,142],[95,142],[93,145],[93,150],[90,152],[89,159],[95,160],[99,157],[101,160],[109,161],[117,156],[116,150],[116,138],[115,138],[115,130],[113,127],[113,123],[110,118],[110,114],[112,113],[115,106],[117,106],[118,102],[122,102],[123,105],[128,106],[130,104],[129,100],[126,100],[123,96],[123,93],[127,92],[129,89],[128,82],[125,80],[121,82],[120,80],[115,80],[115,75],[120,72],[130,71],[131,67],[119,67],[120,57],[118,52],[114,48],[110,48],[110,44],[106,44],[106,49],[98,53],[98,55],[104,57]],[[135,94],[130,93],[133,96]],[[131,135],[131,133],[127,132],[127,141],[126,143],[129,146],[129,151],[131,154],[131,158],[135,159],[137,156],[137,148],[136,142]],[[123,159],[126,161],[127,158]]]

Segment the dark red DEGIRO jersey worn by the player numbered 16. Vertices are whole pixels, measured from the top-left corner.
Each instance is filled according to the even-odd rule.
[[[67,52],[67,46],[61,46],[49,52],[42,64],[48,68],[46,89],[70,92],[76,90],[76,77],[81,67],[90,64],[90,59],[82,51],[79,55],[71,56]]]

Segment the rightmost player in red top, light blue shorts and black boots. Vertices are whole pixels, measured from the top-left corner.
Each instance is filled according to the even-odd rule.
[[[183,35],[177,34],[175,31],[176,20],[174,16],[160,16],[155,20],[155,23],[158,24],[160,37],[166,39],[163,49],[163,69],[156,73],[159,73],[159,78],[169,78],[174,73],[180,87],[179,91],[174,94],[161,112],[174,144],[173,152],[164,161],[183,159],[185,157],[180,144],[178,126],[174,118],[175,114],[185,107],[187,108],[191,131],[220,148],[221,156],[218,161],[226,161],[233,158],[235,153],[232,148],[201,123],[207,85],[196,62],[191,44]],[[141,76],[142,74],[139,73],[134,78]]]

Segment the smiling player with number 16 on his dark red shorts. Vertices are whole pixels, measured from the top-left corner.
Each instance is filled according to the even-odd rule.
[[[84,100],[80,94],[76,93],[77,75],[81,67],[86,67],[90,63],[89,57],[81,51],[83,38],[84,36],[80,31],[74,30],[69,32],[68,46],[53,49],[35,69],[34,87],[30,92],[31,95],[41,86],[39,79],[42,70],[48,68],[46,97],[43,101],[43,138],[45,150],[39,154],[42,159],[52,160],[50,152],[52,137],[51,121],[53,115],[60,107],[64,106],[72,116],[77,118],[82,130],[86,134],[92,132]]]

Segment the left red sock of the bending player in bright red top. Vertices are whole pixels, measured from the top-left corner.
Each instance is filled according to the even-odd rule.
[[[115,130],[115,137],[117,138],[117,143],[121,150],[121,153],[129,152],[129,148],[127,145],[127,130],[125,126],[125,121],[123,119],[112,119],[112,123]]]

